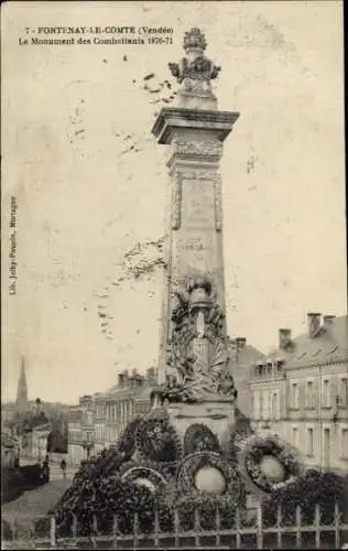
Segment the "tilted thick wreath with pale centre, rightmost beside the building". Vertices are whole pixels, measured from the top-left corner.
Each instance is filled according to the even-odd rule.
[[[262,472],[261,462],[267,455],[271,455],[283,466],[285,472],[283,480],[273,483]],[[303,473],[297,451],[276,436],[252,435],[247,439],[240,445],[238,463],[243,478],[251,485],[252,489],[265,494],[292,484]]]

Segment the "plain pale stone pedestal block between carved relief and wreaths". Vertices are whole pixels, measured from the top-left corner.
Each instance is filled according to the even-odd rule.
[[[225,447],[235,426],[235,403],[220,396],[202,403],[171,403],[166,410],[182,442],[191,425],[202,423],[216,434],[220,445]]]

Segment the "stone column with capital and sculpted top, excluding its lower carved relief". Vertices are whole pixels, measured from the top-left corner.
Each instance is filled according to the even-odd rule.
[[[219,162],[222,143],[230,133],[238,112],[218,111],[210,87],[219,67],[204,56],[206,42],[199,30],[185,34],[187,57],[170,69],[182,85],[178,105],[163,108],[152,133],[160,144],[170,148],[168,184],[171,205],[167,246],[167,281],[162,310],[162,335],[159,380],[165,379],[167,353],[171,348],[175,307],[175,290],[189,279],[207,278],[213,284],[214,301],[225,313],[222,258],[222,208]],[[222,321],[220,336],[226,338]],[[207,343],[194,348],[207,354]],[[227,343],[226,343],[227,349]]]

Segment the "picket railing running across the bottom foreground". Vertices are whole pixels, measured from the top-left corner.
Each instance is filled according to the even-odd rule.
[[[244,511],[243,511],[244,512]],[[173,511],[173,529],[167,531],[161,528],[161,519],[154,511],[152,530],[148,533],[142,531],[139,516],[135,514],[132,529],[122,533],[119,527],[118,515],[113,516],[112,529],[109,533],[98,530],[98,518],[93,517],[89,536],[80,536],[78,521],[72,516],[73,522],[70,536],[59,537],[56,519],[50,517],[47,533],[40,537],[36,532],[34,517],[2,515],[2,519],[9,523],[11,536],[2,534],[2,549],[178,549],[182,547],[195,549],[340,549],[348,543],[348,523],[344,514],[335,504],[331,522],[322,520],[320,507],[314,509],[313,522],[308,518],[303,519],[300,506],[295,508],[294,522],[284,521],[281,506],[276,509],[275,522],[272,525],[263,518],[263,508],[257,504],[249,511],[249,520],[239,509],[232,519],[232,527],[222,526],[219,510],[213,519],[214,527],[206,529],[202,526],[198,510],[194,514],[194,526],[191,530],[183,528],[180,511]],[[211,520],[211,519],[210,519]],[[22,522],[22,526],[20,523]],[[252,525],[252,526],[251,526]],[[271,525],[271,526],[270,526]],[[25,533],[24,533],[25,532]],[[107,547],[106,547],[107,545]]]

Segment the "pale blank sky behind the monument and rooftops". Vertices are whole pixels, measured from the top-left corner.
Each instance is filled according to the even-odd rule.
[[[19,45],[26,26],[81,25],[173,28],[173,44]],[[15,397],[22,356],[30,398],[67,403],[156,364],[168,181],[151,128],[175,105],[167,63],[192,26],[222,67],[219,109],[240,112],[220,166],[229,334],[268,352],[280,327],[305,332],[309,311],[346,314],[341,2],[10,2],[2,399]]]

